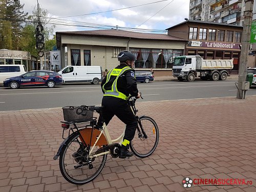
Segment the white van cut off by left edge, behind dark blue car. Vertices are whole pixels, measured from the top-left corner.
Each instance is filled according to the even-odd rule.
[[[0,65],[0,84],[9,77],[16,77],[26,72],[24,65]]]

